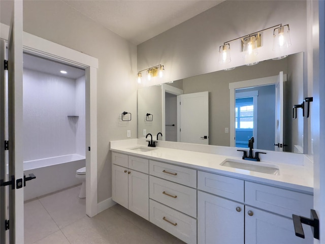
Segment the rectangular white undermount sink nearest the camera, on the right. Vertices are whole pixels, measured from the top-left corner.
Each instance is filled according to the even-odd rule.
[[[266,164],[261,162],[226,159],[220,165],[236,168],[236,169],[255,171],[255,172],[260,172],[265,174],[280,175],[280,170],[276,165]]]

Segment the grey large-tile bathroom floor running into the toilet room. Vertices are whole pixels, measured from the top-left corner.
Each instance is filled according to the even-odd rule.
[[[25,202],[25,244],[181,244],[170,235],[116,204],[86,216],[80,186]]]

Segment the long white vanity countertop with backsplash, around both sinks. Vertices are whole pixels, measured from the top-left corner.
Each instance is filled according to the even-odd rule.
[[[159,144],[167,145],[167,143],[169,142],[159,141]],[[219,173],[223,175],[234,176],[237,178],[241,178],[249,181],[261,182],[261,183],[278,186],[282,188],[290,188],[290,189],[296,189],[298,191],[303,191],[306,193],[313,193],[313,164],[304,155],[281,153],[281,154],[285,154],[283,158],[286,159],[286,163],[284,163],[279,159],[271,161],[270,157],[275,155],[275,158],[279,158],[281,154],[278,153],[278,155],[276,155],[274,154],[274,152],[267,151],[269,154],[269,161],[264,161],[262,158],[263,155],[261,155],[260,157],[261,163],[267,163],[270,165],[277,166],[277,168],[279,168],[280,175],[273,175],[273,174],[259,173],[255,171],[248,171],[243,169],[221,166],[220,163],[222,163],[226,159],[237,159],[237,160],[241,159],[241,157],[238,157],[239,152],[237,152],[237,148],[221,147],[221,150],[224,148],[224,151],[223,151],[223,155],[220,155],[220,154],[202,153],[200,151],[194,151],[193,145],[189,145],[187,143],[177,143],[177,146],[182,147],[182,145],[180,144],[183,144],[184,148],[190,148],[191,150],[174,149],[165,146],[153,147],[155,148],[154,150],[146,151],[146,152],[130,149],[134,147],[147,146],[146,142],[141,139],[111,141],[110,149],[112,151],[115,151],[116,153],[128,154],[128,155],[146,158],[150,160],[156,160],[160,162],[166,162],[175,165],[190,167],[197,170],[204,170],[204,171],[210,171],[210,172]],[[175,142],[172,142],[168,146],[175,147],[175,145],[176,145]],[[218,147],[218,146],[213,146],[213,147]],[[220,148],[216,148],[216,150],[220,150]],[[258,150],[258,151],[263,151],[263,150]],[[290,160],[290,156],[292,157],[291,160]],[[300,159],[300,157],[301,160],[297,160]],[[298,165],[296,165],[295,161],[302,161],[302,163],[298,162]],[[250,161],[247,161],[247,163],[250,163]]]

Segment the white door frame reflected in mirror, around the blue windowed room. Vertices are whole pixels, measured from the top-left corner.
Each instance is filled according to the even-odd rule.
[[[240,88],[249,88],[253,86],[264,86],[264,85],[273,85],[277,83],[277,77],[269,76],[263,78],[257,78],[252,80],[243,80],[229,83],[229,90],[230,90],[230,146],[236,146],[236,139],[235,139],[235,104],[236,104],[236,89]],[[283,82],[287,80],[287,75],[283,74]]]

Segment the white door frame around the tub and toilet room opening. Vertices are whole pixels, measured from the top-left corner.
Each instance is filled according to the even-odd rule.
[[[0,38],[8,40],[9,26],[1,23]],[[98,59],[23,32],[23,51],[85,69],[86,88],[86,214],[98,214],[97,199],[97,69]]]

